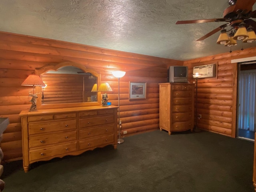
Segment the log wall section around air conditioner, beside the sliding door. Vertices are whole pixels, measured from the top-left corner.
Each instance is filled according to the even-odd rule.
[[[198,79],[197,114],[202,115],[198,120],[195,114],[198,128],[236,137],[238,64],[231,63],[231,60],[254,56],[256,48],[249,48],[184,62],[189,68],[190,81],[194,81],[194,66],[214,63],[217,65],[217,78]]]

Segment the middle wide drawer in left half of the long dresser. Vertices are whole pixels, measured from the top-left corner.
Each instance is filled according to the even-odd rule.
[[[29,148],[32,148],[72,140],[77,140],[76,130],[33,135],[29,137],[28,144]]]

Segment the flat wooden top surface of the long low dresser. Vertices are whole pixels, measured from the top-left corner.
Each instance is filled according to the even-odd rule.
[[[20,112],[19,116],[30,116],[39,114],[50,114],[50,113],[61,113],[61,112],[79,112],[86,110],[106,110],[115,109],[118,106],[85,106],[85,107],[69,107],[69,108],[56,108],[56,109],[38,109],[37,111],[30,112],[28,110],[23,110]]]

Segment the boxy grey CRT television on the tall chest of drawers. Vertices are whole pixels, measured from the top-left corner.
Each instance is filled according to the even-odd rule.
[[[167,80],[170,83],[187,83],[188,66],[170,66],[168,69]]]

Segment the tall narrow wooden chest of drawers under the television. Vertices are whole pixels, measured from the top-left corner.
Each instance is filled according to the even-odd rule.
[[[194,84],[159,84],[160,130],[186,131],[194,128]]]

